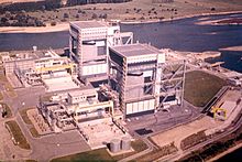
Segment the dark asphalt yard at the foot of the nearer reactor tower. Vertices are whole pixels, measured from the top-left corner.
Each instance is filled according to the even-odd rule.
[[[160,110],[155,114],[128,118],[125,127],[133,136],[152,136],[179,123],[187,122],[199,115],[199,108],[185,104],[184,107],[170,107],[168,111]]]

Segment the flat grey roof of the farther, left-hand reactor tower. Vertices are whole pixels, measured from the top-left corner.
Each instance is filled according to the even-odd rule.
[[[108,26],[108,23],[103,21],[74,21],[74,22],[70,22],[70,24],[74,24],[78,26],[79,29],[92,29],[92,28]]]

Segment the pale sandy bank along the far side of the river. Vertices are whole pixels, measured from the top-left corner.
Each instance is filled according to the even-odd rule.
[[[174,19],[164,19],[164,20],[144,20],[144,21],[121,21],[122,24],[140,24],[140,23],[155,23],[155,22],[168,22],[175,20],[183,20],[194,17],[200,15],[220,15],[220,14],[232,14],[232,13],[242,13],[242,11],[230,11],[230,12],[217,12],[217,13],[201,13],[201,14],[191,14],[185,17],[178,17]],[[45,32],[59,32],[59,31],[67,31],[69,29],[69,23],[57,23],[56,25],[52,26],[47,24],[46,26],[1,26],[0,33],[45,33]]]

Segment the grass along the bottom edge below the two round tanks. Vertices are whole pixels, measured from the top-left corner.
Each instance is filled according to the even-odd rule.
[[[141,152],[147,148],[147,145],[142,141],[142,140],[135,140],[131,142],[132,148],[135,150],[134,152],[131,153],[125,153],[117,156],[111,156],[106,149],[98,149],[98,150],[91,150],[88,152],[82,152],[82,153],[77,153],[77,154],[72,154],[67,156],[62,156],[52,160],[52,162],[66,162],[66,161],[78,161],[78,162],[106,162],[106,161],[118,161],[123,158],[127,158],[129,155],[132,155],[136,152]]]

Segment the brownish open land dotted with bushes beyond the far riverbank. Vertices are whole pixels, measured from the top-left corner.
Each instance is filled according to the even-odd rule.
[[[175,19],[180,17],[189,17],[201,13],[216,13],[227,11],[242,11],[241,0],[175,0],[172,3],[155,3],[153,0],[133,0],[127,3],[100,3],[100,4],[87,4],[58,9],[57,11],[31,12],[31,15],[41,18],[46,22],[52,20],[62,21],[63,14],[68,13],[68,20],[87,20],[91,19],[92,14],[107,13],[108,19],[120,19],[123,21],[154,21],[161,18]],[[211,9],[215,8],[215,11]],[[78,13],[78,10],[82,10],[86,13]],[[78,14],[79,18],[76,18]]]

